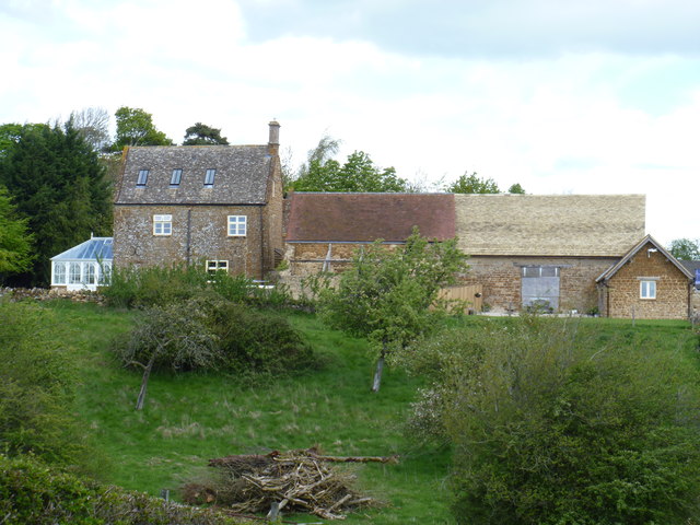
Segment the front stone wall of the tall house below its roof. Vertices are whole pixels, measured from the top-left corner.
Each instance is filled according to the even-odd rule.
[[[171,235],[153,235],[153,215],[173,215]],[[114,264],[171,266],[228,260],[231,273],[261,279],[265,226],[261,206],[115,206]],[[228,235],[228,215],[246,215],[246,236]]]

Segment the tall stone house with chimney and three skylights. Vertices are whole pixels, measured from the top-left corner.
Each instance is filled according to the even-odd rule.
[[[114,264],[202,264],[262,279],[280,261],[279,128],[265,145],[127,148]]]

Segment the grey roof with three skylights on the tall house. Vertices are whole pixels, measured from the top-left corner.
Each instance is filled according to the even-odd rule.
[[[133,147],[126,152],[117,205],[262,205],[271,172],[268,145]],[[149,170],[145,186],[138,186]],[[173,170],[182,170],[171,187]],[[207,170],[215,170],[213,187],[205,187]]]

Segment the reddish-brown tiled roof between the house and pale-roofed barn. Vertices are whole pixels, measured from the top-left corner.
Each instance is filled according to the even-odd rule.
[[[418,226],[421,235],[455,236],[451,194],[293,192],[287,242],[404,242]]]

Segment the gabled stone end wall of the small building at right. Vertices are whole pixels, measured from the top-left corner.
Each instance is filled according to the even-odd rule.
[[[609,317],[688,318],[688,278],[661,252],[649,252],[650,247],[653,245],[643,246],[609,279],[605,289]],[[656,299],[640,298],[640,282],[645,278],[656,281]]]

